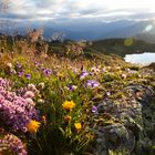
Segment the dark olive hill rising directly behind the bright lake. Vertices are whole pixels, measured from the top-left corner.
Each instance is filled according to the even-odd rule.
[[[137,50],[140,52],[155,52],[155,44],[153,43],[146,43],[141,40],[133,40],[133,44],[127,46],[124,45],[124,40],[125,39],[108,39],[94,41],[92,45],[87,46],[87,50],[92,52],[99,51],[106,54],[114,53],[121,56],[124,56],[125,54],[135,53]]]

